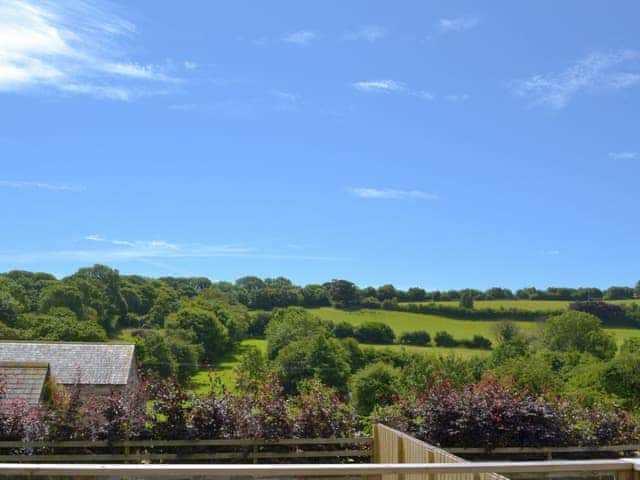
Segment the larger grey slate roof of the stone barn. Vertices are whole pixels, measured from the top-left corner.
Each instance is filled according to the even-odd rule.
[[[0,362],[45,362],[63,385],[125,385],[134,345],[107,343],[0,342]]]

